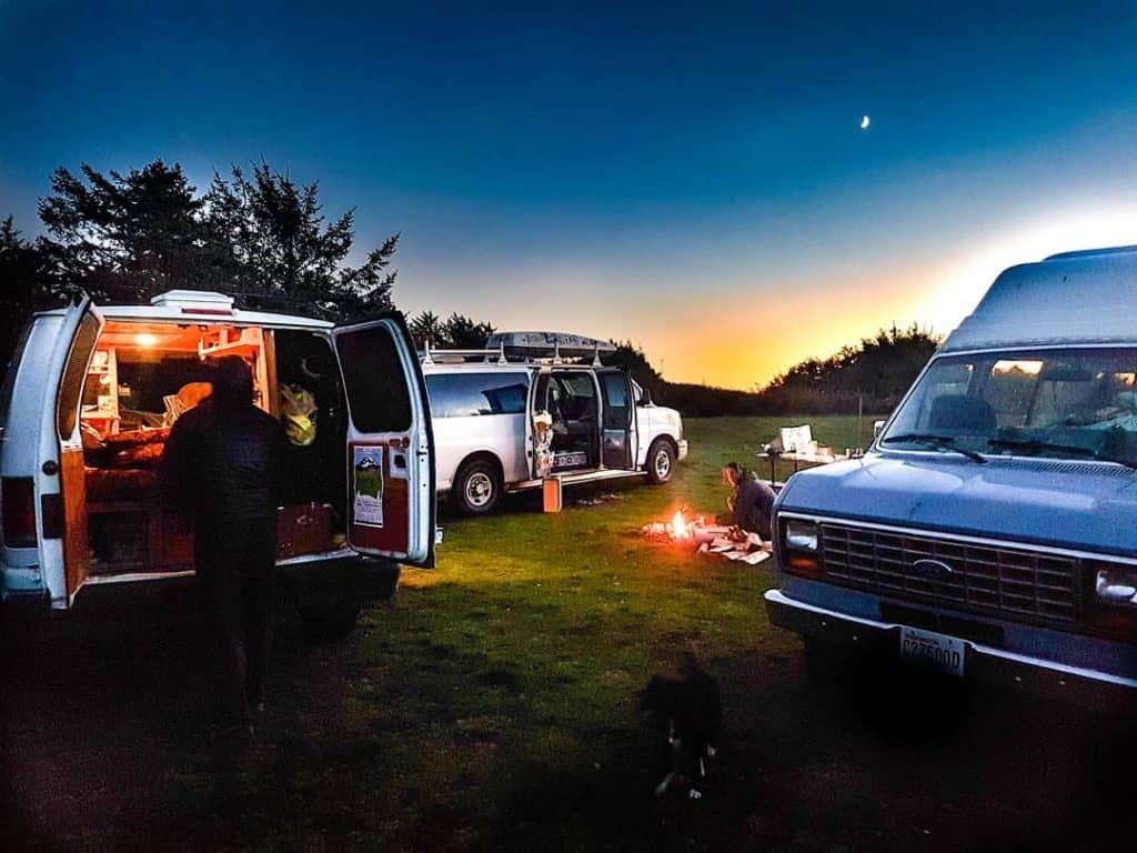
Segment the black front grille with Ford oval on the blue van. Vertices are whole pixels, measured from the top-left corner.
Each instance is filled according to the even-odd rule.
[[[831,523],[821,549],[830,580],[881,596],[1049,622],[1078,615],[1071,557]]]

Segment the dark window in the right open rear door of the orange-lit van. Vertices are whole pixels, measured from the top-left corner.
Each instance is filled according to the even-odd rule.
[[[335,348],[343,367],[348,411],[363,432],[410,429],[410,391],[391,333],[370,326],[340,334]]]

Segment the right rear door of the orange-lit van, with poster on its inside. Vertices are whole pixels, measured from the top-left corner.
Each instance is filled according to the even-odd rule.
[[[332,331],[348,401],[348,544],[434,564],[434,433],[401,314]]]

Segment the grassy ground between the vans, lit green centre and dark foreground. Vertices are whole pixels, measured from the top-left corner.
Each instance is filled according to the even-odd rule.
[[[853,419],[811,420],[824,444],[855,441]],[[246,748],[208,735],[216,664],[188,602],[83,620],[89,599],[24,653],[0,633],[0,850],[1126,848],[1080,840],[1124,831],[1127,792],[1090,793],[1137,760],[1130,706],[881,661],[819,670],[766,620],[769,562],[640,539],[677,506],[720,508],[721,463],[778,425],[694,421],[675,480],[619,500],[443,516],[438,569],[406,571],[348,638],[282,633]],[[697,803],[653,796],[666,747],[634,713],[687,651],[724,707]]]

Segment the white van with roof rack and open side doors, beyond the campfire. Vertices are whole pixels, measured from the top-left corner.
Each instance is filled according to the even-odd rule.
[[[506,491],[647,477],[687,457],[683,423],[621,367],[606,341],[503,332],[487,349],[421,353],[438,452],[438,489],[459,512],[491,512]],[[546,429],[547,428],[547,429]]]

